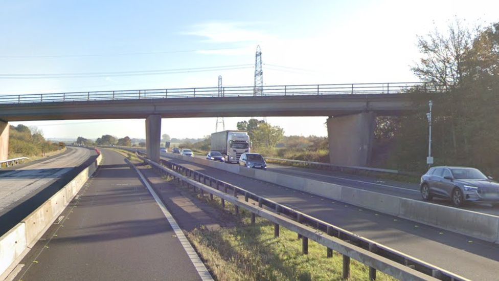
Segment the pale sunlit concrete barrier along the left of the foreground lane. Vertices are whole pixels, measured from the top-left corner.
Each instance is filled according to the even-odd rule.
[[[92,164],[67,183],[24,220],[0,237],[0,280],[3,280],[36,244],[59,214],[71,202],[86,180],[102,162],[99,155]]]

